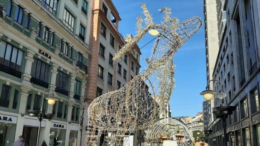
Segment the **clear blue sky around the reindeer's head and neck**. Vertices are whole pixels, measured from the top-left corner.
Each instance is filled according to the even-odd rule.
[[[119,32],[126,34],[136,33],[136,18],[142,15],[141,4],[145,3],[156,23],[163,21],[163,15],[158,12],[164,6],[171,8],[172,17],[178,17],[180,21],[193,16],[203,19],[203,1],[198,0],[112,0],[116,6],[121,21],[119,22]],[[143,15],[142,15],[143,17]],[[202,21],[203,22],[203,21]],[[205,42],[204,26],[178,50],[174,57],[176,64],[175,79],[176,88],[170,100],[172,116],[195,116],[197,112],[202,112],[203,97],[199,95],[206,87],[206,63],[205,63]],[[152,40],[154,37],[147,34],[138,45]],[[153,42],[141,49],[141,58],[149,58]],[[146,66],[144,61],[140,61],[142,68]],[[141,68],[141,70],[142,70]]]

